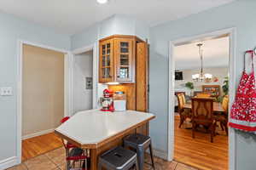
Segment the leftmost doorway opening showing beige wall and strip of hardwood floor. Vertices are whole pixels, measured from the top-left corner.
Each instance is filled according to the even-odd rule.
[[[65,54],[22,45],[22,161],[62,146],[54,132],[65,116]]]

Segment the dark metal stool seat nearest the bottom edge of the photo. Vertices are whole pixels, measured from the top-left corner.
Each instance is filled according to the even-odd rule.
[[[128,170],[134,165],[137,166],[137,153],[120,146],[99,157],[99,169],[105,167],[108,170]]]

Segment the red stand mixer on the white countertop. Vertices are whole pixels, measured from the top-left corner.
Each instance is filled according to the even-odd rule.
[[[102,105],[101,111],[114,111],[113,108],[113,91],[105,89],[103,91],[103,97],[100,99]]]

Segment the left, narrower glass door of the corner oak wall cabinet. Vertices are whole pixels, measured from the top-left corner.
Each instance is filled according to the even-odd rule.
[[[113,81],[113,42],[102,42],[100,47],[100,82]]]

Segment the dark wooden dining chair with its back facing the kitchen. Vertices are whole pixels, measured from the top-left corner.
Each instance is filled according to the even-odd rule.
[[[216,122],[213,116],[213,100],[203,98],[192,98],[192,137],[195,138],[195,128],[198,125],[208,127],[211,133],[211,142],[215,135]]]

